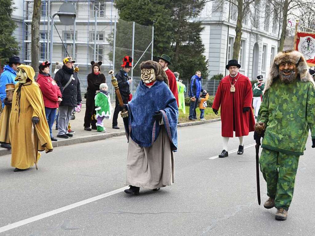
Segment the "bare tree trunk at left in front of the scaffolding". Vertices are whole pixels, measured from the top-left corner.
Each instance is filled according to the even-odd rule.
[[[34,0],[33,17],[31,25],[31,66],[34,68],[35,72],[38,72],[38,61],[39,61],[39,25],[41,17],[41,0]]]

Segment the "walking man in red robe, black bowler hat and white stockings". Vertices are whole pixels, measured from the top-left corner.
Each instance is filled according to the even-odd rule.
[[[219,157],[228,157],[227,143],[230,137],[239,138],[238,155],[244,152],[243,137],[254,131],[255,119],[252,106],[253,91],[249,79],[238,72],[241,65],[237,60],[230,60],[226,69],[230,74],[219,84],[212,105],[213,112],[218,114],[221,105],[221,133],[223,137],[223,151]]]

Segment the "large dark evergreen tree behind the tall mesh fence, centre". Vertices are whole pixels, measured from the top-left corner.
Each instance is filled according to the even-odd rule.
[[[167,54],[170,68],[181,78],[190,78],[196,70],[208,77],[200,22],[192,19],[203,9],[204,0],[115,0],[119,17],[126,21],[154,26],[154,58]]]

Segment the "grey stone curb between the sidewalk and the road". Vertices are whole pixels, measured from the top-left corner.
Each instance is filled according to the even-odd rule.
[[[199,125],[199,124],[208,124],[220,121],[221,118],[218,119],[212,119],[212,120],[204,120],[204,121],[193,121],[193,122],[186,122],[186,123],[180,123],[177,124],[177,127],[186,127],[186,126],[192,126],[192,125]],[[53,142],[53,147],[62,147],[62,146],[68,146],[78,143],[86,143],[86,142],[92,142],[92,141],[98,141],[98,140],[104,140],[109,139],[113,137],[123,136],[125,135],[125,131],[119,131],[114,133],[105,133],[105,134],[95,134],[95,135],[87,135],[83,137],[77,137],[77,138],[68,138],[65,140],[55,141]],[[0,156],[11,154],[11,150],[8,150],[6,148],[1,147],[0,148]]]

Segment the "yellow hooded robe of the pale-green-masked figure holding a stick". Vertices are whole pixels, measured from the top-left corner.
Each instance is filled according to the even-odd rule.
[[[31,66],[20,65],[29,78],[26,83],[15,84],[12,108],[9,122],[9,136],[12,147],[11,166],[27,169],[38,161],[38,151],[53,150],[49,127],[46,120],[42,92],[34,81],[35,72]],[[38,117],[39,122],[34,127],[32,135],[32,117]],[[36,162],[37,162],[36,161]]]

